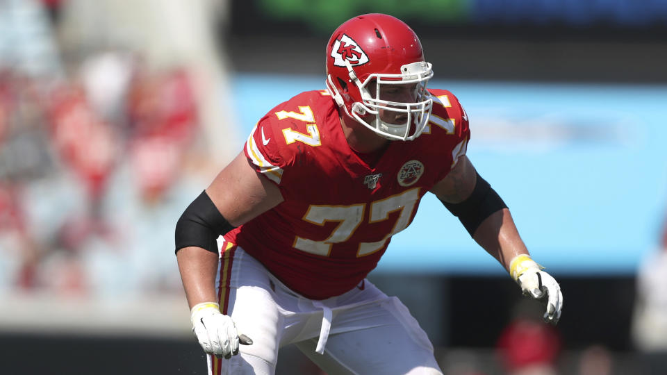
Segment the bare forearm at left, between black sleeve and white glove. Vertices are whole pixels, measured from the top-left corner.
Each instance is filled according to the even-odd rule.
[[[176,253],[183,289],[186,291],[188,306],[216,301],[215,272],[217,253],[201,247],[185,247]]]

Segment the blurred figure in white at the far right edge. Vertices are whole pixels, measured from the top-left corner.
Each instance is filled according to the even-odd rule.
[[[658,249],[637,270],[632,335],[650,374],[667,374],[667,218]]]

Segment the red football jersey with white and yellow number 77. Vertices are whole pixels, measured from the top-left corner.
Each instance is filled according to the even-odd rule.
[[[354,288],[391,236],[412,222],[422,196],[466,153],[465,111],[450,92],[429,91],[434,105],[424,133],[390,142],[374,165],[350,149],[326,91],[303,92],[270,110],[245,154],[284,201],[225,239],[304,297]]]

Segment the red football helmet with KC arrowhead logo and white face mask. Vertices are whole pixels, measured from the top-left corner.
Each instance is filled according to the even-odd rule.
[[[415,32],[390,15],[373,13],[349,19],[338,26],[327,44],[331,97],[347,115],[390,140],[414,140],[424,131],[433,105],[426,90],[432,76]],[[415,86],[415,100],[382,100],[382,85]],[[406,122],[384,122],[379,110],[406,114]]]

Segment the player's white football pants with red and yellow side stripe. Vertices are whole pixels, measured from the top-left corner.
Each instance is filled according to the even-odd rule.
[[[368,281],[322,301],[293,292],[240,247],[224,242],[216,285],[222,313],[253,340],[208,374],[273,375],[278,349],[296,344],[329,375],[442,374],[426,333],[396,297]]]

